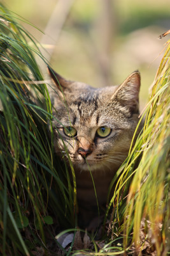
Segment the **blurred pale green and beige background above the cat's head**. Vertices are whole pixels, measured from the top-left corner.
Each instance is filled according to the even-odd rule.
[[[159,40],[159,35],[170,29],[169,0],[3,3],[27,20],[20,23],[43,45],[46,59],[66,79],[99,87],[120,84],[139,70],[143,109],[169,39]],[[46,72],[46,67],[42,69]]]

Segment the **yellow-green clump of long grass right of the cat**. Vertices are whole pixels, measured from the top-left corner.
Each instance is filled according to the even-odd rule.
[[[113,204],[112,237],[122,234],[125,250],[129,246],[137,255],[170,252],[169,67],[170,42],[167,42],[143,113],[146,115],[143,132],[118,170],[118,182],[110,202],[110,206]]]

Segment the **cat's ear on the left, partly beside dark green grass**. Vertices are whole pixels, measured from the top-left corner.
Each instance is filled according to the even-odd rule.
[[[62,76],[57,74],[57,72],[55,72],[50,67],[48,67],[48,73],[50,74],[50,77],[52,78],[53,83],[57,86],[57,88],[59,88],[60,91],[61,89],[64,91],[66,88],[69,87],[71,83],[73,83],[72,81],[68,81],[64,79]]]

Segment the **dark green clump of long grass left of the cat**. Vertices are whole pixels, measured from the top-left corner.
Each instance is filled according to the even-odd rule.
[[[43,56],[2,4],[0,31],[0,254],[29,255],[46,248],[44,228],[73,225],[73,202],[48,140],[52,106],[34,59]]]

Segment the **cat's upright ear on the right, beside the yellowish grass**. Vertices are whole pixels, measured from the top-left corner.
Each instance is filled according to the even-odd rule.
[[[131,110],[131,112],[138,111],[139,105],[139,89],[141,85],[141,76],[138,71],[133,72],[124,83],[122,83],[114,95],[111,97],[118,100],[122,106]]]

